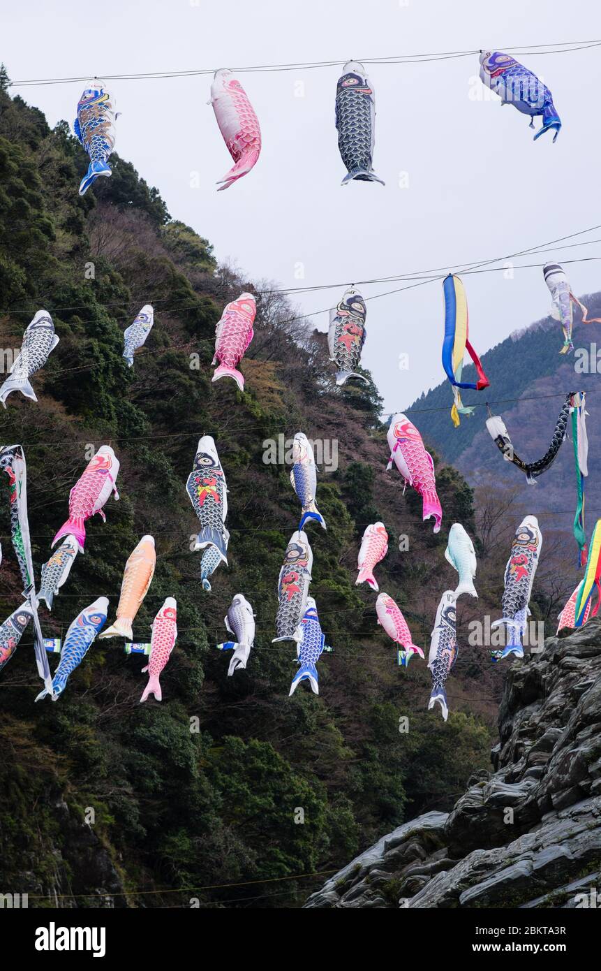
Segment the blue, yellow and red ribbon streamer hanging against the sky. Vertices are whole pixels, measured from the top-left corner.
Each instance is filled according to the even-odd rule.
[[[467,407],[461,401],[460,388],[472,388],[482,391],[488,387],[489,381],[484,374],[484,369],[480,357],[474,351],[469,340],[469,318],[467,312],[467,298],[465,288],[459,277],[452,273],[445,278],[443,283],[445,294],[445,339],[443,341],[443,367],[452,385],[453,405],[451,408],[451,419],[455,428],[459,424],[459,415],[471,415],[474,407]],[[463,356],[468,352],[476,371],[478,381],[461,381],[463,371]]]

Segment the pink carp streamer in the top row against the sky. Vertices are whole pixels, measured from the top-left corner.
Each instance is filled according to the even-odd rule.
[[[220,192],[248,175],[255,165],[261,151],[261,129],[247,92],[227,68],[216,71],[208,103],[213,105],[219,131],[235,162],[219,179],[223,183]]]

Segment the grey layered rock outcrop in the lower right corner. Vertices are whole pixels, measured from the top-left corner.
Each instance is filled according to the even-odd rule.
[[[508,670],[494,771],[406,822],[306,907],[575,907],[601,880],[601,620]]]

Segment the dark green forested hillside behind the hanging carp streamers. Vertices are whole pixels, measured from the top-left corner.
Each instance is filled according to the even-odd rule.
[[[64,694],[34,704],[41,683],[25,633],[0,679],[3,887],[28,892],[30,906],[189,906],[191,898],[201,906],[300,904],[323,881],[304,875],[340,868],[408,815],[451,808],[487,763],[503,677],[482,648],[462,646],[448,686],[449,721],[426,711],[425,663],[395,664],[374,594],[354,586],[365,526],[384,520],[390,542],[378,568],[381,589],[395,597],[427,654],[436,604],[456,583],[444,559],[451,523],[464,524],[481,556],[480,600],[461,601],[465,631],[470,618],[498,611],[504,544],[519,511],[510,503],[495,513],[484,503],[476,515],[472,489],[437,459],[445,518],[434,536],[431,523],[421,522],[417,494],[403,496],[400,477],[384,471],[376,387],[337,389],[324,336],[294,320],[274,285],[219,266],[210,243],[171,218],[128,162],[114,154],[113,177],[79,197],[86,159],[68,125],[50,130],[39,111],[9,96],[6,81],[0,343],[18,348],[40,308],[50,311],[60,338],[34,377],[38,403],[13,394],[0,416],[2,443],[22,444],[27,459],[38,579],[89,446],[112,445],[121,463],[120,499],[107,504],[106,524],[89,521],[85,552],[51,614],[40,610],[44,633],[64,634],[100,595],[114,616],[124,562],[151,533],[156,573],[134,632],[148,640],[164,598],[176,596],[179,637],[160,704],[139,704],[143,659],[127,656],[117,640],[96,641]],[[213,385],[210,367],[221,309],[243,289],[256,295],[258,311],[244,393],[232,382]],[[130,370],[122,332],[145,303],[155,322]],[[512,380],[523,386],[523,375]],[[513,386],[504,385],[503,395]],[[434,441],[431,426],[415,418]],[[337,468],[318,472],[327,531],[309,527],[311,593],[334,653],[319,661],[319,695],[303,684],[289,698],[294,650],[271,640],[298,502],[289,466],[265,454],[269,441],[298,430],[338,447]],[[189,551],[197,520],[184,488],[204,433],[215,437],[227,477],[231,533],[229,568],[219,568],[209,594],[199,579],[201,554]],[[7,485],[0,491],[3,617],[22,589]],[[406,552],[400,535],[409,537]],[[257,636],[248,669],[227,678],[227,658],[215,645],[239,591],[254,607]],[[541,570],[535,617],[552,617],[561,595]],[[402,716],[407,733],[399,731]]]

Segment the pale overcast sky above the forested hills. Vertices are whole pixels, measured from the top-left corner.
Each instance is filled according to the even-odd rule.
[[[0,59],[14,81],[601,39],[601,8],[591,0],[103,0],[90,8],[75,0],[1,0],[0,10]],[[117,151],[159,188],[174,218],[250,278],[347,284],[477,261],[601,223],[600,51],[518,56],[551,87],[563,122],[555,145],[550,134],[534,143],[526,117],[484,98],[477,55],[369,65],[374,168],[385,187],[340,185],[337,67],[240,75],[263,151],[253,172],[226,191],[215,184],[230,159],[206,103],[210,77],[111,83],[122,112]],[[54,124],[73,121],[82,88],[14,90]],[[200,187],[190,187],[191,173]],[[404,173],[408,187],[399,184]],[[588,238],[597,237],[601,232]],[[562,254],[601,255],[601,243],[526,262]],[[304,280],[295,277],[299,263]],[[568,269],[577,292],[601,288],[601,261]],[[481,353],[549,310],[540,269],[517,271],[513,280],[475,275],[465,284]],[[363,293],[399,285],[369,285]],[[308,294],[297,305],[321,311],[340,292]],[[315,322],[325,329],[327,316]],[[442,284],[368,301],[367,327],[363,363],[386,409],[404,408],[442,380]],[[409,354],[409,370],[399,369],[401,353]]]

